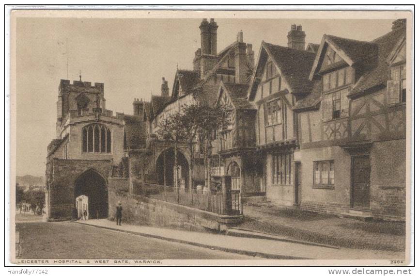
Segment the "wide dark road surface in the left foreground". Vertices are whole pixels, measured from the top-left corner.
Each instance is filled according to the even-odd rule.
[[[71,222],[16,223],[19,259],[254,259]]]

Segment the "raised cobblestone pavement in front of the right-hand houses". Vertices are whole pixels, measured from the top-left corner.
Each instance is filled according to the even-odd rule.
[[[363,222],[296,209],[269,202],[244,206],[245,221],[238,227],[293,239],[358,249],[404,251],[405,224]]]

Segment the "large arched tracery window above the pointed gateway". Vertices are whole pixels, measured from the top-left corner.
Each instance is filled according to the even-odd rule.
[[[91,124],[85,126],[81,133],[83,152],[110,153],[112,139],[109,128]]]

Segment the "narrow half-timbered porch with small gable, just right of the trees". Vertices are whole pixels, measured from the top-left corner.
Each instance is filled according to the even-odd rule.
[[[221,81],[217,105],[229,110],[230,124],[227,130],[218,131],[213,142],[215,175],[232,177],[233,190],[245,195],[259,195],[261,163],[256,157],[255,117],[256,106],[248,101],[248,85]]]

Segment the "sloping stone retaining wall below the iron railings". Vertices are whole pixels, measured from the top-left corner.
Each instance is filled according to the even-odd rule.
[[[223,231],[243,219],[243,215],[217,215],[141,195],[110,190],[109,220],[115,220],[118,202],[121,202],[123,207],[122,221],[127,224]]]

